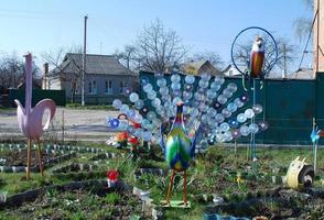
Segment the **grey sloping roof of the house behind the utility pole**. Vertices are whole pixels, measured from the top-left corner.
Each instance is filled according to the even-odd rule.
[[[53,73],[78,73],[83,66],[83,54],[67,53],[62,64]],[[133,75],[112,55],[86,55],[86,74],[99,75]]]

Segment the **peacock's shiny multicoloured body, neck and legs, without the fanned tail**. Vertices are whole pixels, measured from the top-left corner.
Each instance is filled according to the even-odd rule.
[[[195,155],[196,136],[199,129],[195,132],[194,138],[187,136],[184,121],[183,121],[183,106],[184,103],[176,105],[176,116],[166,136],[166,142],[163,139],[163,127],[161,125],[161,145],[164,151],[164,156],[169,167],[172,169],[170,184],[166,194],[166,204],[170,205],[170,196],[173,187],[174,176],[179,172],[183,172],[183,204],[187,206],[187,190],[186,190],[186,169],[190,166],[191,160]]]

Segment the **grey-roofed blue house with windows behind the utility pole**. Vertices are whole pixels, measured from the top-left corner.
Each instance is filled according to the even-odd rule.
[[[67,102],[80,102],[83,54],[65,55],[62,64],[44,76],[47,89],[65,90]],[[137,90],[138,77],[111,55],[86,55],[86,105],[127,100],[127,90]]]

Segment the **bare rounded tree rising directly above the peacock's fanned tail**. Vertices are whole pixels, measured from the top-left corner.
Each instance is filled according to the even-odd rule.
[[[119,54],[129,69],[165,72],[182,63],[186,48],[175,31],[166,30],[156,19],[144,26],[134,44],[127,45]]]

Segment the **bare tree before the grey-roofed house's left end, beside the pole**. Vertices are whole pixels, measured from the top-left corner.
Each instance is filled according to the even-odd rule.
[[[83,48],[82,46],[72,46],[69,48],[57,47],[55,50],[44,52],[42,54],[42,58],[43,62],[48,63],[48,65],[54,67],[54,70],[52,72],[53,76],[55,75],[57,77],[61,77],[62,80],[71,82],[71,102],[74,103],[76,90],[78,85],[80,84],[83,68],[72,57],[69,57],[68,62],[72,62],[75,72],[66,74],[64,72],[65,65],[63,65],[63,59],[67,53],[82,54]]]

